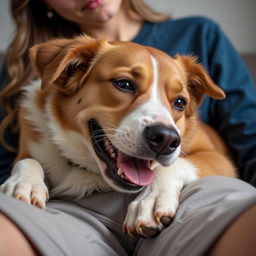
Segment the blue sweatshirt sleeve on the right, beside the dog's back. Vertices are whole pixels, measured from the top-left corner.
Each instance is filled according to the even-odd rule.
[[[256,186],[256,87],[218,26],[208,34],[208,67],[224,100],[211,100],[210,124],[232,150],[241,179]]]

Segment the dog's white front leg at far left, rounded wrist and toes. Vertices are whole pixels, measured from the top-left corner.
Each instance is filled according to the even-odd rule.
[[[18,161],[13,168],[11,177],[0,186],[0,193],[45,209],[49,194],[44,183],[42,166],[30,158]]]

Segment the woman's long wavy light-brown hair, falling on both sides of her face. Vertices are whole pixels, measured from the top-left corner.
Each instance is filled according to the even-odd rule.
[[[168,19],[167,15],[154,12],[142,0],[124,1],[145,20],[161,22]],[[57,13],[54,13],[53,18],[47,18],[47,11],[48,8],[43,1],[11,1],[11,14],[16,28],[13,41],[7,50],[9,80],[7,86],[0,92],[1,104],[7,113],[0,124],[0,142],[12,152],[15,152],[16,149],[5,141],[4,132],[8,126],[14,133],[19,131],[17,99],[22,86],[36,78],[29,59],[30,47],[46,42],[53,37],[72,38],[80,33],[75,23],[65,20]]]

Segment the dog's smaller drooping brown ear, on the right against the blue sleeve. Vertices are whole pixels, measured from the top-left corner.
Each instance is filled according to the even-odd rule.
[[[196,108],[200,105],[203,100],[203,96],[207,93],[214,99],[224,99],[225,93],[220,89],[219,86],[214,84],[212,79],[207,75],[203,66],[197,63],[197,57],[191,55],[174,57],[185,71],[186,86],[190,95],[190,103],[186,108],[186,116],[190,116],[194,113]]]

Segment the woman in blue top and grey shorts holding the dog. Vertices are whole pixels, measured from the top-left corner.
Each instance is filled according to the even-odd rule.
[[[1,183],[10,175],[18,142],[18,98],[36,78],[29,48],[81,32],[108,41],[132,41],[170,56],[194,54],[226,93],[205,97],[204,122],[230,147],[241,179],[208,176],[181,191],[177,214],[157,237],[122,233],[134,196],[93,193],[63,196],[46,211],[0,194],[1,255],[253,255],[256,228],[256,90],[219,26],[202,18],[167,19],[141,0],[12,0],[16,34],[1,71]],[[251,183],[251,185],[249,184]],[[254,236],[253,236],[254,234]]]

